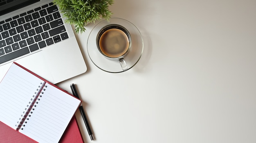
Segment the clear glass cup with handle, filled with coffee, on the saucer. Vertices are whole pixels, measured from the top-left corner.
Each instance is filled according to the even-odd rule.
[[[96,38],[99,52],[109,60],[120,62],[123,71],[128,69],[124,56],[131,47],[130,33],[124,26],[109,24],[99,30]]]

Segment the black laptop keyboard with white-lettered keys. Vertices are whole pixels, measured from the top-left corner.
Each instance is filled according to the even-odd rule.
[[[53,3],[0,20],[0,64],[68,38]]]

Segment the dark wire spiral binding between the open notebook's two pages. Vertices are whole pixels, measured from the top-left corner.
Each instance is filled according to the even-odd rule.
[[[36,104],[38,104],[38,101],[42,97],[43,91],[45,91],[45,88],[47,87],[46,85],[42,87],[42,85],[43,83],[41,82],[38,86],[38,89],[36,89],[36,91],[39,92],[35,92],[34,95],[32,95],[32,98],[30,99],[31,102],[29,102],[27,108],[25,108],[25,110],[23,111],[23,114],[21,115],[19,121],[17,121],[18,124],[15,125],[17,127],[16,130],[23,130],[23,127],[26,126],[25,124],[27,124],[27,120],[29,120],[29,117],[31,117],[31,114],[35,110]]]

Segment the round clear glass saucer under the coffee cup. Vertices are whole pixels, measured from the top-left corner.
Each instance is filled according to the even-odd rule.
[[[134,24],[121,18],[110,18],[109,22],[107,20],[103,20],[102,22],[97,24],[89,34],[87,41],[87,51],[92,63],[99,67],[99,69],[110,73],[124,72],[118,59],[115,61],[107,59],[99,52],[97,48],[97,34],[99,30],[101,30],[101,28],[109,24],[119,24],[121,26],[124,26],[129,31],[132,45],[129,52],[124,56],[124,59],[126,61],[128,70],[136,65],[143,52],[143,39],[141,37],[141,33]]]

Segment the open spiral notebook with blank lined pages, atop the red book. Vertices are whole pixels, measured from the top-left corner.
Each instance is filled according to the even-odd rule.
[[[17,63],[0,82],[0,121],[39,143],[58,143],[80,104]]]

